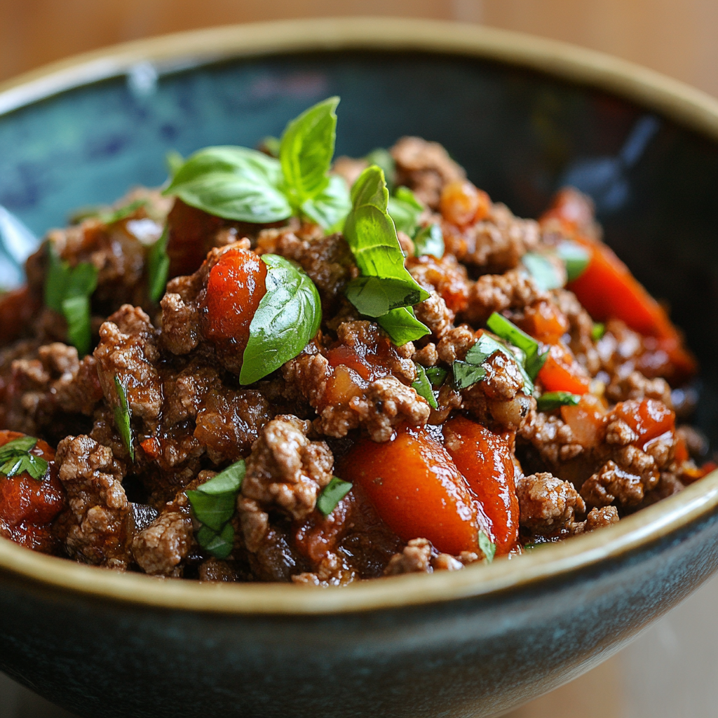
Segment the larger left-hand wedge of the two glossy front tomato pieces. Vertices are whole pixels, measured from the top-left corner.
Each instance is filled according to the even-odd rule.
[[[383,444],[360,441],[341,460],[338,475],[358,483],[404,541],[428,538],[448,554],[477,549],[470,490],[447,450],[424,429],[401,427]]]

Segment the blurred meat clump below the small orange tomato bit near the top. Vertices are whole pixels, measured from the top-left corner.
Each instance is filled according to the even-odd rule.
[[[540,238],[537,222],[514,217],[502,204],[492,205],[487,218],[465,228],[444,221],[442,231],[447,251],[459,261],[493,272],[514,269]]]

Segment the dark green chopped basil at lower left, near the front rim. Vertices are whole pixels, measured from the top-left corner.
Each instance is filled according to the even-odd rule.
[[[197,521],[197,542],[218,559],[226,559],[232,552],[234,528],[230,519],[237,508],[237,495],[246,473],[244,460],[221,471],[195,490],[185,491]]]

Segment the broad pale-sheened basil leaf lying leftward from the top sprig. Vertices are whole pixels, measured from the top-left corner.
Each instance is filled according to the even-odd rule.
[[[218,146],[192,154],[164,194],[225,219],[268,223],[292,214],[281,184],[281,165],[274,157],[246,147]]]

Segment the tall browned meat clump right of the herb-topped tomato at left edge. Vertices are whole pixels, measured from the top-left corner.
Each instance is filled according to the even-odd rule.
[[[90,437],[67,437],[55,458],[67,493],[67,510],[55,521],[55,533],[70,556],[119,571],[131,562],[129,503],[122,487],[123,468],[111,449]]]

